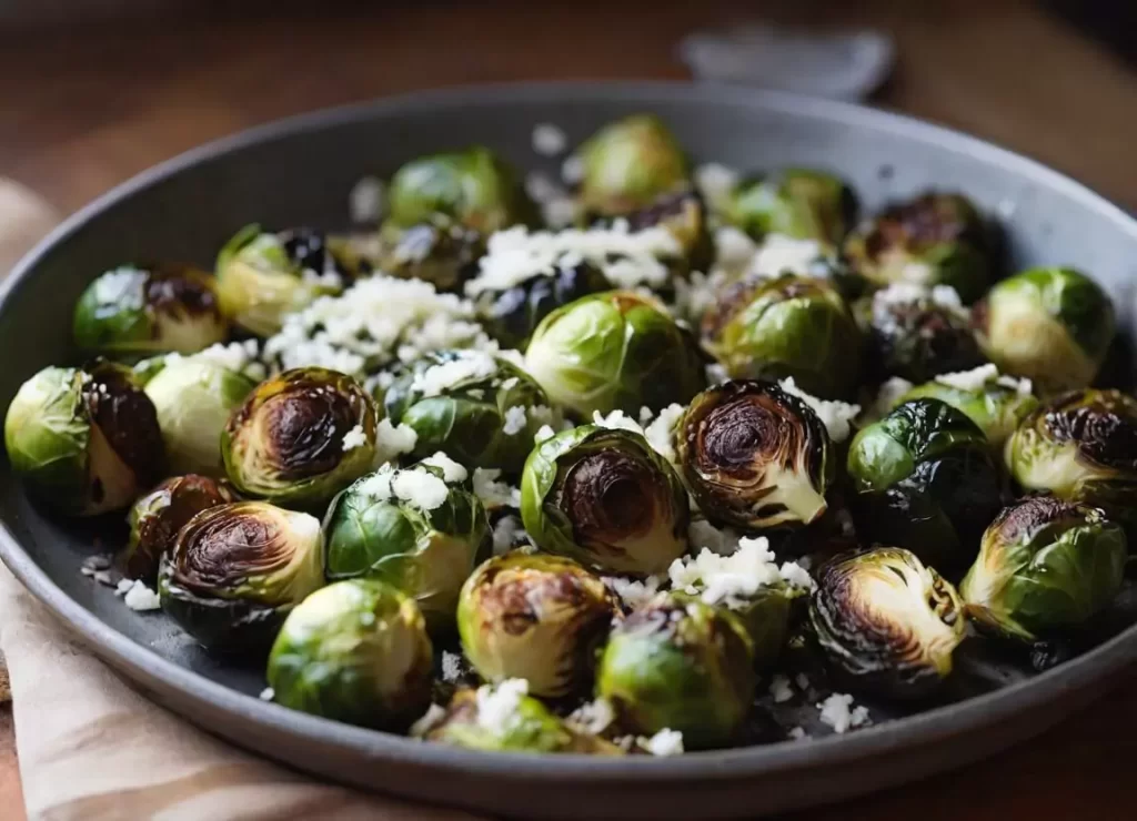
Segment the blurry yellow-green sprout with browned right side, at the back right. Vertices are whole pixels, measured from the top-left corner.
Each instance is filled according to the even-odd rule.
[[[735,186],[723,216],[755,238],[781,234],[836,248],[856,218],[856,198],[832,174],[786,168]]]

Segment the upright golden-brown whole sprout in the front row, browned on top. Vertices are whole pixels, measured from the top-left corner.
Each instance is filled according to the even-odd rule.
[[[484,562],[462,588],[458,635],[478,675],[520,678],[546,697],[587,689],[616,602],[571,559],[508,553]]]

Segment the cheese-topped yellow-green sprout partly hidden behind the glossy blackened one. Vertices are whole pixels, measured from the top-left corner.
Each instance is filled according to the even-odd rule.
[[[982,379],[955,379],[955,376],[984,376]],[[969,384],[973,383],[973,384]],[[918,385],[899,397],[899,403],[914,399],[937,399],[963,411],[987,436],[991,446],[1002,452],[1003,444],[1014,433],[1038,400],[1030,392],[1028,379],[999,376],[993,366],[982,366],[969,374],[947,375]]]

